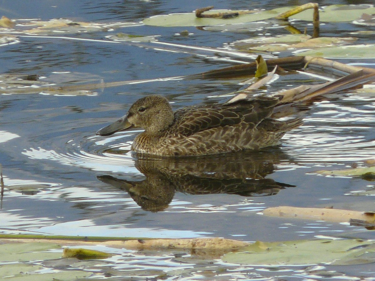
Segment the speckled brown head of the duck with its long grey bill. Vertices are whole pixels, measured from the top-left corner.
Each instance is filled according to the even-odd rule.
[[[173,119],[173,111],[166,98],[146,96],[138,99],[125,116],[100,129],[96,134],[107,136],[136,127],[143,128],[148,134],[159,135],[171,125]]]

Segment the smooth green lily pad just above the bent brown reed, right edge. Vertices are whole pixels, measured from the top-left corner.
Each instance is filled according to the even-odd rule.
[[[330,59],[373,59],[375,58],[375,44],[317,48],[296,55]]]

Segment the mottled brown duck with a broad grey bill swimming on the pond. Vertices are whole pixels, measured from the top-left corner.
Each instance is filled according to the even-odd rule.
[[[108,136],[130,128],[144,129],[131,150],[142,156],[201,156],[276,146],[301,118],[275,120],[279,96],[254,96],[234,102],[203,104],[172,111],[168,99],[138,99],[126,115],[96,132]]]

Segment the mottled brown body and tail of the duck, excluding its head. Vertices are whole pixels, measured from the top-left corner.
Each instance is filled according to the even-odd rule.
[[[286,131],[302,124],[301,119],[285,122],[270,119],[278,102],[277,97],[260,96],[229,104],[185,107],[175,111],[173,123],[154,144],[145,141],[146,136],[141,134],[132,149],[159,156],[179,156],[274,146]]]

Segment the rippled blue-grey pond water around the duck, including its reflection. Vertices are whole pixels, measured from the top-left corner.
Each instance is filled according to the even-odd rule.
[[[326,3],[323,2],[320,5]],[[229,9],[271,9],[281,5],[276,1],[253,1],[253,6],[248,7],[248,1],[228,0],[96,0],[63,1],[53,5],[50,1],[0,3],[2,14],[9,18],[69,18],[102,23],[137,23],[152,15],[190,12],[209,5]],[[350,4],[351,1],[334,3]],[[372,1],[360,3],[372,4]],[[21,4],[22,9],[15,8]],[[303,3],[287,3],[296,4]],[[296,22],[302,30],[305,25]],[[185,29],[192,35],[176,35]],[[337,36],[340,33],[348,36],[359,30],[366,28],[351,23],[332,23],[321,27],[321,35]],[[214,48],[225,47],[228,42],[258,33],[288,33],[284,29],[233,33],[195,27],[141,25],[114,32],[66,36],[105,39],[105,36],[117,32],[160,35],[157,39],[162,42]],[[236,65],[221,54],[181,49],[165,51],[152,44],[142,47],[126,42],[114,44],[40,37],[19,39],[18,44],[1,47],[1,74],[37,74],[45,77],[41,81],[59,85],[152,80]],[[360,44],[372,41],[373,35],[359,38]],[[238,60],[253,61],[250,57]],[[364,63],[354,59],[340,61]],[[374,60],[366,60],[366,63],[366,66],[374,67]],[[315,79],[313,82],[316,83],[323,81]],[[155,238],[211,236],[243,241],[311,239],[319,235],[373,239],[374,233],[362,227],[270,218],[260,212],[272,206],[375,209],[373,197],[351,196],[353,191],[374,189],[373,182],[311,174],[316,170],[351,167],[353,163],[362,165],[363,160],[375,158],[374,96],[347,93],[314,102],[308,111],[296,114],[304,117],[303,126],[288,132],[279,147],[260,152],[217,155],[193,161],[147,162],[132,158],[128,152],[139,131],[117,133],[111,137],[95,135],[98,129],[123,116],[130,105],[143,96],[163,95],[176,110],[202,102],[225,101],[226,98],[211,96],[239,90],[243,87],[240,85],[243,80],[158,80],[99,87],[94,95],[1,95],[0,164],[6,187],[0,211],[0,233]],[[310,83],[312,80],[303,75],[280,78],[267,91],[299,86],[306,81]],[[215,182],[207,177],[214,173],[227,174],[226,181]],[[155,181],[160,184],[153,185]],[[239,182],[242,183],[240,187]],[[145,263],[142,266],[147,268],[149,264],[159,263],[158,268],[164,272],[181,267],[168,257],[150,258],[146,254],[134,259],[138,259],[139,264]],[[133,265],[136,263],[134,259]],[[124,262],[126,264],[126,259]],[[313,275],[299,275],[298,270],[306,268],[237,266],[231,269],[231,274],[227,272],[223,276],[204,278],[314,278]],[[323,268],[341,272],[341,277],[347,279],[375,276],[373,264]],[[150,273],[150,277],[159,273]],[[186,280],[200,278],[193,274],[189,276],[185,276]]]

